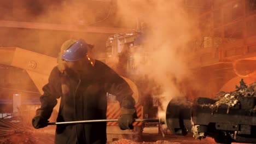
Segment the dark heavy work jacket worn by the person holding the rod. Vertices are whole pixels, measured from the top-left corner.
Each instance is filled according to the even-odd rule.
[[[106,93],[117,96],[121,107],[135,109],[129,85],[106,64],[96,61],[90,73],[79,78],[72,70],[66,74],[55,67],[43,87],[41,107],[36,116],[50,118],[57,98],[61,97],[57,122],[106,119]],[[55,143],[106,143],[106,122],[57,125]]]

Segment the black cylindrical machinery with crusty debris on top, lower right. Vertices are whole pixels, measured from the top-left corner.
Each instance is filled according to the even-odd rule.
[[[241,80],[237,91],[219,93],[215,99],[173,99],[167,107],[167,127],[176,135],[191,132],[196,139],[210,136],[218,143],[256,143],[255,85]]]

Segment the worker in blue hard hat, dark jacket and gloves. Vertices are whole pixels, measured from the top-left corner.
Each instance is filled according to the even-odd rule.
[[[131,88],[113,69],[93,59],[90,49],[83,39],[62,44],[58,65],[43,87],[41,107],[32,119],[34,128],[47,126],[60,97],[57,122],[106,119],[108,92],[117,96],[121,106],[120,129],[133,129],[137,114]],[[106,122],[57,125],[55,143],[106,143],[106,128]]]

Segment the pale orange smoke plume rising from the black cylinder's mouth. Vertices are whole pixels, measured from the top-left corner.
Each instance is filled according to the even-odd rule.
[[[148,52],[149,58],[146,64],[137,64],[137,68],[160,86],[158,95],[154,96],[161,103],[159,118],[165,119],[168,102],[173,97],[185,96],[179,83],[192,76],[188,65],[190,47],[185,44],[191,33],[196,32],[194,21],[185,13],[181,1],[118,1],[118,6],[118,14],[124,17],[124,23],[133,18],[147,25],[144,31],[149,35],[144,51]],[[140,54],[136,54],[135,59],[139,61]]]

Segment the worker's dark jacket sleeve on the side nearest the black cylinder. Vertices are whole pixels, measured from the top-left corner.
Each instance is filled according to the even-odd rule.
[[[104,87],[106,92],[117,97],[122,109],[132,109],[134,111],[135,100],[132,98],[133,92],[128,83],[109,67],[107,67],[105,72],[106,82]]]

